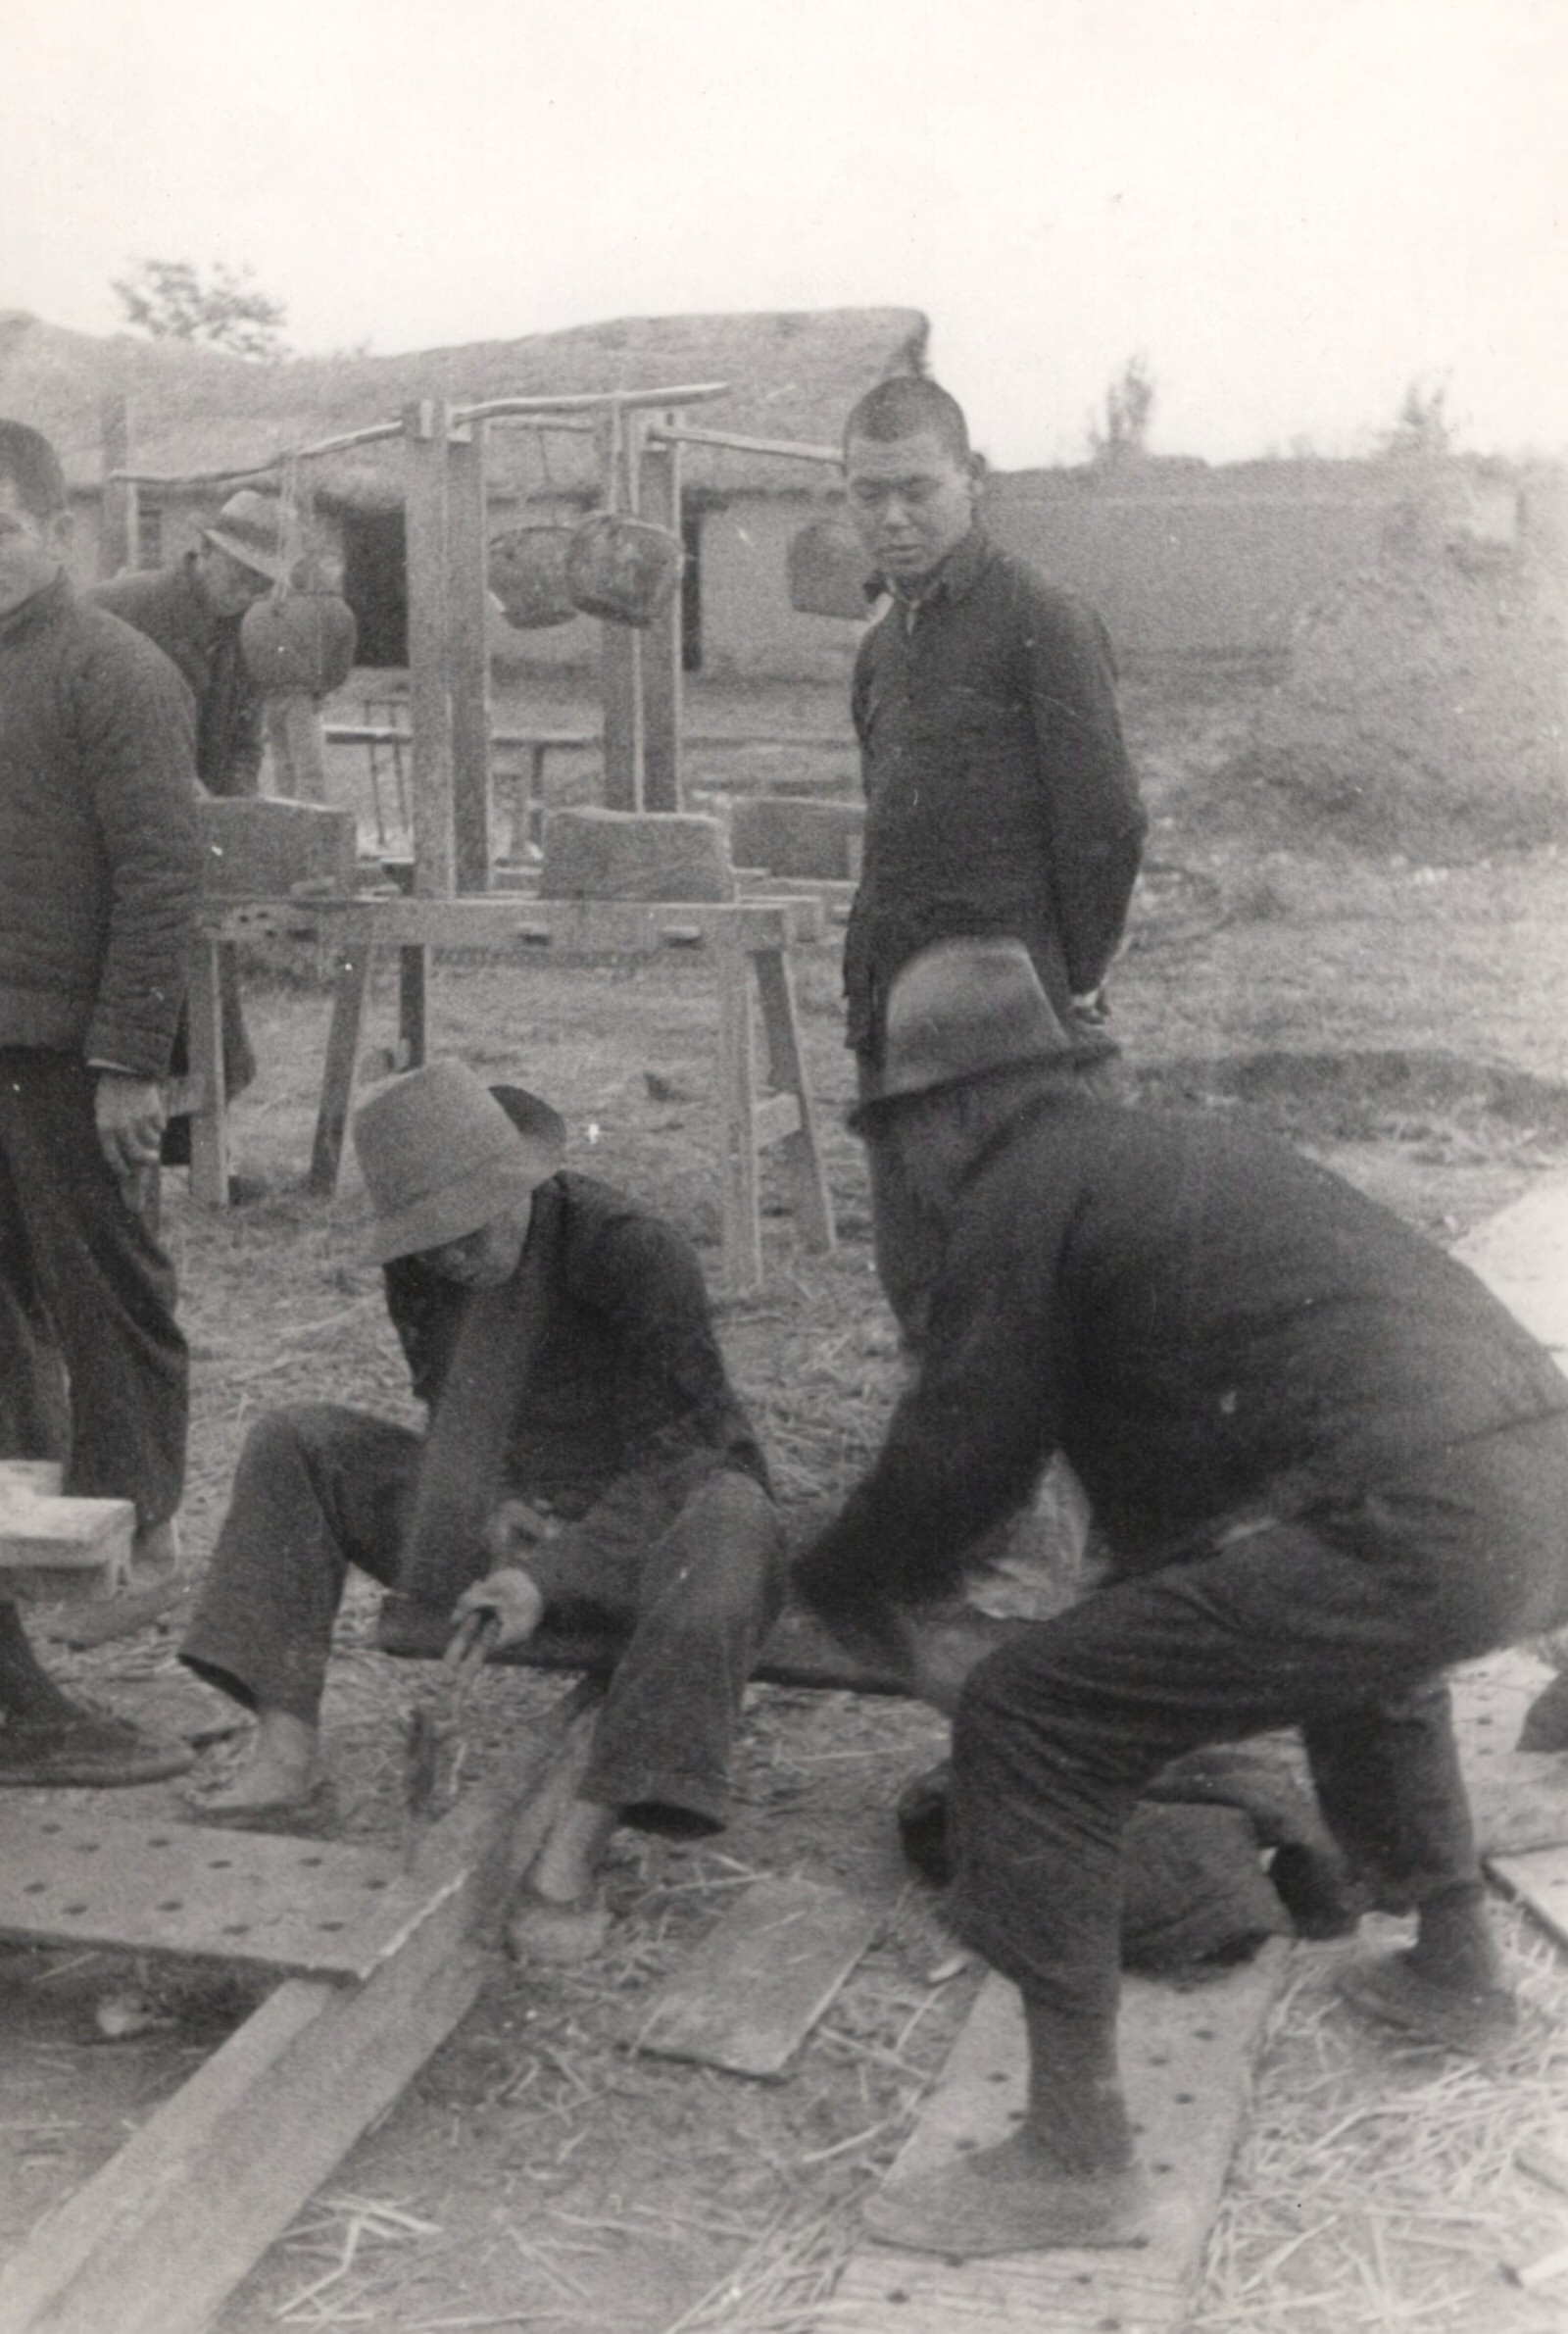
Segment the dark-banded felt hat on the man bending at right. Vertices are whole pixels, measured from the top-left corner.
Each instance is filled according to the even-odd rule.
[[[996,1069],[1078,1069],[1111,1053],[1108,1041],[1069,1036],[1022,941],[938,941],[894,976],[882,1078],[849,1125],[875,1127],[898,1102]]]

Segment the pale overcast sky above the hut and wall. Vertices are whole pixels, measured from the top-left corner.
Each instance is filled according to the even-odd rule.
[[[1409,380],[1568,450],[1568,0],[0,0],[0,306],[138,254],[299,350],[912,306],[1001,467],[1143,352],[1160,453]]]

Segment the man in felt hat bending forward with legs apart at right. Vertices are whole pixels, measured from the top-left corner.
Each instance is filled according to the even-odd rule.
[[[800,1561],[805,1599],[954,1708],[959,1933],[1024,2003],[1006,2145],[875,2208],[938,2252],[1127,2243],[1122,1825],[1167,1760],[1295,1725],[1409,1951],[1353,2003],[1486,2049],[1512,2026],[1442,1671],[1568,1617],[1568,1379],[1454,1258],[1279,1141],[1085,1092],[1017,943],[889,999],[859,1111],[947,1223],[917,1382]],[[1064,1449],[1108,1578],[964,1676],[922,1627]]]

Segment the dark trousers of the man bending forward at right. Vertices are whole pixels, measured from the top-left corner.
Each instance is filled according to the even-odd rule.
[[[968,1676],[952,1739],[959,1933],[1029,1998],[1108,2017],[1139,1793],[1204,1743],[1300,1727],[1384,1905],[1477,1879],[1440,1673],[1568,1613],[1568,1419],[1115,1580]]]

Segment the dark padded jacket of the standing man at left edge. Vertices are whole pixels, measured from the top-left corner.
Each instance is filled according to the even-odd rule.
[[[61,579],[0,619],[0,1046],[163,1076],[198,885],[189,693]]]

